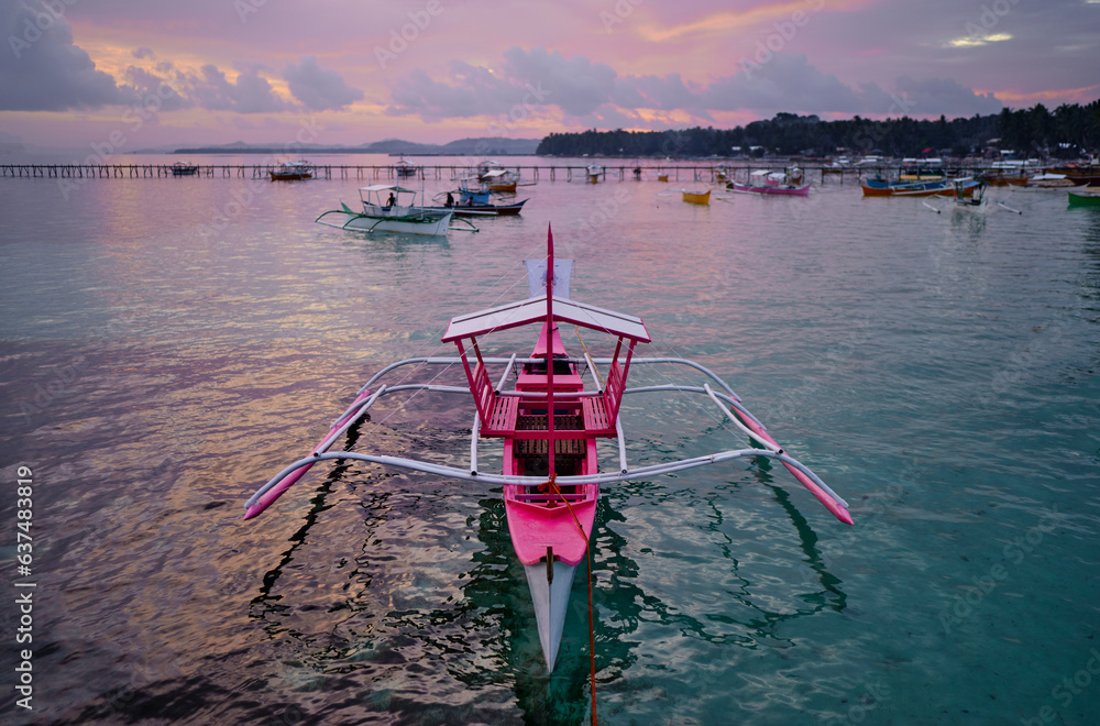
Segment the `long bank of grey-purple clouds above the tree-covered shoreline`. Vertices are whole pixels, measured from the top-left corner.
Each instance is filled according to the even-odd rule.
[[[747,59],[737,73],[705,86],[685,81],[678,73],[617,76],[604,64],[580,56],[564,58],[543,48],[525,52],[513,47],[504,56],[503,74],[452,62],[449,78],[441,81],[416,69],[393,85],[388,112],[419,114],[429,121],[508,113],[509,108],[524,103],[535,112],[529,101],[536,90],[540,103],[557,106],[586,122],[630,120],[641,110],[684,110],[710,121],[714,111],[972,116],[1001,109],[992,94],[976,94],[942,78],[917,81],[903,77],[890,90],[877,84],[850,86],[823,73],[805,56],[791,53]]]

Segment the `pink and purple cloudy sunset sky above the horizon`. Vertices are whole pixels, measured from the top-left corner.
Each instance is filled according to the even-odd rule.
[[[1100,97],[1100,0],[0,0],[0,145],[446,143]]]

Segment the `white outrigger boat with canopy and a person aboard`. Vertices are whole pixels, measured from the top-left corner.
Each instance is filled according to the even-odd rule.
[[[363,205],[363,211],[356,212],[341,202],[341,209],[323,212],[314,221],[327,227],[358,232],[399,232],[444,237],[451,227],[451,218],[454,215],[453,209],[417,206],[416,191],[405,189],[396,184],[375,184],[370,187],[361,187],[359,197]],[[470,227],[473,228],[473,224]]]

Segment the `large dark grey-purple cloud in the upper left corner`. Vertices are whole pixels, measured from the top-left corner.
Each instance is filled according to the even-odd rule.
[[[37,0],[0,0],[0,36],[8,46],[0,51],[0,111],[67,111],[133,100],[73,44],[65,18]]]

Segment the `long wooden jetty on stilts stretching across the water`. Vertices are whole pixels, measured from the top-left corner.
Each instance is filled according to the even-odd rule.
[[[596,160],[593,160],[596,163]],[[733,163],[733,164],[598,164],[602,179],[617,178],[619,180],[632,179],[635,169],[648,177],[654,175],[668,175],[670,182],[719,182],[728,178],[734,173],[751,173],[758,169],[777,169],[790,166],[791,162],[774,160],[768,163],[767,160],[757,163]],[[0,164],[0,178],[129,178],[129,179],[155,179],[170,177],[195,176],[217,177],[217,178],[267,178],[273,169],[270,164],[188,164],[194,170],[183,172],[175,164]],[[314,178],[321,179],[396,179],[407,178],[398,173],[393,165],[337,165],[337,164],[312,164]],[[867,174],[889,173],[898,169],[895,165],[861,166],[861,167],[834,167],[816,165],[798,165],[806,174],[807,178],[817,176],[822,182],[826,177],[837,177],[843,183],[845,176],[859,178]],[[588,166],[580,165],[518,165],[509,166],[502,164],[498,168],[515,172],[520,179],[539,182],[574,180],[586,178],[590,175]],[[416,168],[417,179],[457,179],[463,176],[469,169],[469,165],[421,165]],[[946,168],[952,174],[975,174],[985,172],[990,176],[997,176],[1005,172],[1000,169],[982,169],[974,167]]]

